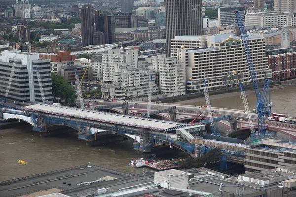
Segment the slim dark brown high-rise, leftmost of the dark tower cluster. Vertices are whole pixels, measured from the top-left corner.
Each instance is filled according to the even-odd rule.
[[[91,5],[84,5],[80,9],[82,45],[93,44],[94,15]]]

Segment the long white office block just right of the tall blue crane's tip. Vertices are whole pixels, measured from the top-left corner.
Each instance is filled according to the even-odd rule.
[[[287,22],[288,16],[290,16],[288,12],[248,13],[245,17],[245,26],[255,26],[256,28],[274,28],[275,26],[284,27],[285,23]]]

